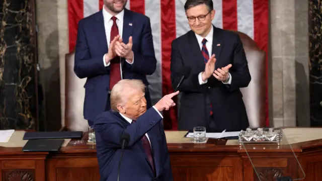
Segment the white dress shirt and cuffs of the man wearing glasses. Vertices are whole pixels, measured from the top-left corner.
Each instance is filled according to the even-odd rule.
[[[199,44],[199,46],[200,46],[200,51],[201,51],[201,49],[202,49],[202,40],[204,39],[202,36],[200,36],[200,35],[198,35],[198,34],[196,34],[195,33],[195,35],[196,35],[196,38],[197,38],[197,41],[198,41],[198,44]],[[211,55],[212,55],[212,39],[213,39],[213,27],[211,26],[211,30],[210,30],[210,32],[208,33],[208,35],[205,37],[205,39],[207,40],[207,42],[206,42],[206,48],[207,48],[207,50],[208,50],[208,53],[209,53],[209,57],[211,57]],[[229,72],[228,72],[229,73]],[[198,79],[199,79],[199,84],[200,85],[202,85],[202,84],[204,84],[204,83],[207,83],[207,81],[208,81],[208,79],[207,80],[205,80],[205,81],[202,81],[202,76],[201,76],[201,74],[202,74],[202,72],[200,72],[199,73],[199,75],[198,75]],[[222,83],[224,83],[224,82],[222,82]],[[231,75],[230,75],[230,73],[229,73],[229,80],[228,80],[228,82],[226,82],[226,83],[224,83],[224,84],[230,84],[231,83]]]

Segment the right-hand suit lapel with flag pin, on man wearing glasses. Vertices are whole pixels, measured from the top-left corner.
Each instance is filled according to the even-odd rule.
[[[212,54],[215,54],[215,57],[216,57],[215,69],[218,68],[218,62],[220,60],[222,47],[223,47],[222,35],[219,32],[219,30],[213,26]]]

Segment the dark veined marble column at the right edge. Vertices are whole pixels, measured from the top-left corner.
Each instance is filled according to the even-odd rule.
[[[309,82],[311,126],[322,126],[322,2],[309,1]]]

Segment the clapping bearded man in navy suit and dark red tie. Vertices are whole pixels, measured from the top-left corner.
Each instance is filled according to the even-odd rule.
[[[110,110],[110,93],[121,79],[140,79],[145,85],[156,68],[150,19],[125,8],[127,0],[104,0],[101,11],[78,22],[74,72],[87,78],[84,118]],[[147,108],[151,107],[148,89]]]

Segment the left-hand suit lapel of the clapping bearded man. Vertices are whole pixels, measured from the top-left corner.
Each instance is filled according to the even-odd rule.
[[[107,46],[107,39],[105,34],[104,18],[103,18],[102,10],[98,13],[96,17],[96,23],[94,23],[94,26],[93,26],[93,32],[95,32],[96,34],[96,38],[102,53],[105,54],[108,51],[108,46]]]

